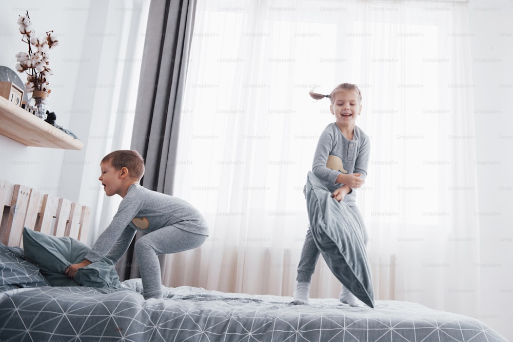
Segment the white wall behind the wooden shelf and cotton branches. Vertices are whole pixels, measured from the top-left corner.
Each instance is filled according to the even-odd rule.
[[[53,30],[61,40],[61,44],[51,50],[50,67],[54,70],[50,86],[51,97],[48,99],[49,109],[57,115],[57,123],[68,127],[84,141],[84,132],[78,127],[69,126],[70,109],[77,83],[80,63],[73,61],[82,55],[82,42],[86,34],[89,11],[73,10],[66,2],[58,2],[54,6],[43,6],[38,1],[18,1],[0,3],[0,65],[15,69],[18,52],[27,52],[28,46],[18,31],[16,21],[18,15],[29,11],[33,28],[38,36]],[[82,3],[84,8],[89,1]],[[68,7],[66,7],[68,6]],[[58,20],[57,20],[58,18]],[[26,82],[24,74],[18,74]],[[13,183],[29,185],[52,195],[59,194],[65,184],[61,184],[61,165],[64,162],[64,151],[53,148],[27,147],[4,136],[0,136],[0,158],[3,167],[0,178]],[[77,200],[73,196],[72,200]]]

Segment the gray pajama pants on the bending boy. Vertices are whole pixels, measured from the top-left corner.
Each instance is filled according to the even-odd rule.
[[[162,298],[162,279],[158,254],[176,253],[201,246],[206,235],[195,234],[180,229],[187,222],[163,227],[145,234],[135,242],[135,255],[139,263],[143,296]]]

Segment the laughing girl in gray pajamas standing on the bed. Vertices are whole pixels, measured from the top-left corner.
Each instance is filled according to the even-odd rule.
[[[344,201],[362,223],[362,237],[367,244],[368,236],[363,218],[356,205],[356,191],[365,182],[369,161],[369,138],[356,125],[362,111],[362,94],[355,84],[343,83],[331,94],[322,95],[310,91],[316,100],[327,97],[331,101],[330,112],[335,122],[329,124],[321,134],[313,156],[312,173],[332,191],[332,197]],[[310,229],[306,234],[301,259],[298,265],[297,286],[293,304],[308,304],[310,282],[320,251],[315,245]],[[361,302],[342,286],[340,301],[351,306]]]

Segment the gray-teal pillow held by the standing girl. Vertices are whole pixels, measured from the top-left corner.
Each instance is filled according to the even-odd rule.
[[[367,251],[356,213],[308,173],[306,203],[313,240],[331,272],[359,300],[374,307],[374,289]]]

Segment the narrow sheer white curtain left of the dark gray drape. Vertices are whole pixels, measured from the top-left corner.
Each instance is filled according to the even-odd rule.
[[[101,4],[94,4],[91,8],[97,11],[98,6]],[[94,54],[100,72],[84,72],[87,82],[77,86],[77,92],[81,87],[90,87],[89,84],[100,84],[100,87],[93,100],[78,96],[75,101],[78,108],[90,108],[92,116],[85,147],[86,159],[90,162],[84,165],[85,179],[82,183],[83,196],[96,201],[88,234],[91,245],[112,221],[122,200],[119,196],[106,197],[97,177],[100,176],[100,161],[105,155],[116,149],[130,148],[149,2],[116,0],[106,7],[107,22],[102,23],[96,18],[97,23],[92,24],[95,30],[101,30],[104,24],[104,31],[100,31],[98,36],[106,38],[101,40],[100,49],[88,49],[88,53],[92,51]],[[115,41],[110,37],[115,37]],[[111,84],[115,87],[108,87]],[[102,89],[102,85],[107,85],[108,91]]]

